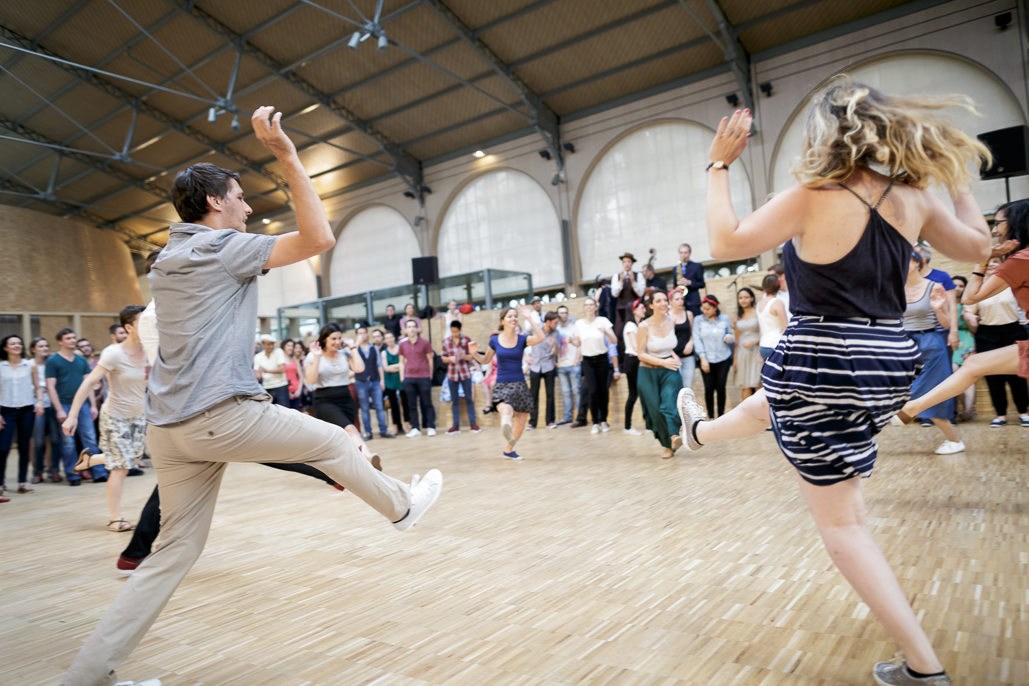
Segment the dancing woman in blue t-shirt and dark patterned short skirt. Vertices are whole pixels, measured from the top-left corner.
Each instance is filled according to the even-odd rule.
[[[525,423],[532,411],[532,396],[529,387],[525,385],[525,374],[522,372],[522,355],[526,346],[542,342],[543,330],[539,324],[529,317],[529,305],[522,305],[516,312],[513,308],[500,311],[500,333],[490,337],[490,349],[478,352],[478,344],[468,344],[468,352],[483,364],[489,364],[493,356],[497,357],[497,381],[493,386],[493,406],[500,412],[500,428],[507,439],[504,446],[504,457],[521,460],[514,452],[514,443],[522,437]],[[533,335],[519,333],[518,316],[522,315],[532,325]]]

